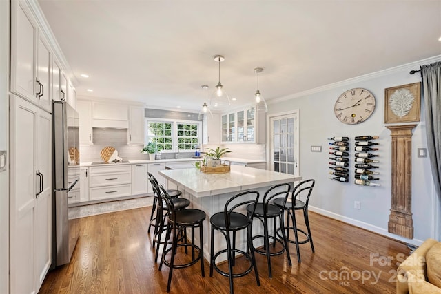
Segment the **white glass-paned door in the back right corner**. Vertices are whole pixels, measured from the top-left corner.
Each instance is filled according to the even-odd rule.
[[[272,171],[298,175],[298,111],[269,117],[269,165]]]

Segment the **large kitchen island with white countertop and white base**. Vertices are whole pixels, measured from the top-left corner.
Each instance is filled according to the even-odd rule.
[[[231,171],[224,174],[206,174],[199,169],[170,169],[159,171],[169,182],[176,185],[177,189],[183,192],[183,198],[191,201],[190,207],[201,209],[207,214],[207,218],[203,224],[204,235],[204,256],[209,261],[210,235],[209,218],[219,211],[223,211],[225,203],[229,198],[242,191],[255,190],[260,193],[259,202],[262,202],[265,191],[277,184],[291,183],[302,180],[301,176],[290,174],[281,174],[274,171],[264,169],[255,169],[252,167],[243,167],[240,165],[232,165]],[[245,211],[243,213],[246,214]],[[271,226],[272,227],[272,226]],[[256,222],[253,226],[253,235],[263,232],[263,228]],[[196,244],[199,244],[196,234]],[[214,243],[214,252],[226,248],[226,242],[223,236],[216,232],[216,242]],[[238,232],[236,236],[236,247],[246,250],[245,231]],[[260,246],[255,240],[254,244]],[[226,255],[220,255],[217,262],[226,260]]]

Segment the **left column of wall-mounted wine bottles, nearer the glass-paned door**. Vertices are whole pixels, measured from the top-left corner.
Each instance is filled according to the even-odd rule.
[[[338,182],[349,182],[349,137],[328,138],[329,142],[329,177]]]

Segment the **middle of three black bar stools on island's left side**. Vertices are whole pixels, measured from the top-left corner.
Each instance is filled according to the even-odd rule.
[[[164,244],[164,242],[169,242],[168,239],[165,239],[161,241],[161,237],[163,235],[164,227],[165,227],[165,219],[169,215],[170,211],[168,211],[167,206],[165,202],[161,200],[161,190],[159,188],[158,182],[154,180],[154,178],[149,178],[150,183],[152,184],[153,193],[158,198],[158,204],[156,205],[156,216],[154,218],[155,223],[154,226],[154,233],[153,233],[153,242],[152,242],[152,248],[155,247],[155,244],[158,244],[156,246],[156,253],[154,262],[158,262],[158,255],[159,255],[159,246],[160,244]],[[172,202],[174,204],[174,209],[181,210],[189,207],[190,200],[185,198],[172,198]],[[182,231],[181,239],[186,238],[187,234],[185,231]],[[169,242],[170,244],[170,242]],[[187,253],[187,247],[185,247],[185,253]]]

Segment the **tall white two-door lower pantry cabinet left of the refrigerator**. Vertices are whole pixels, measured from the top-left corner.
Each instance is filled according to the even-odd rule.
[[[51,261],[52,118],[11,96],[10,292],[37,293]]]

